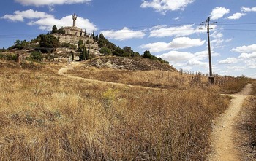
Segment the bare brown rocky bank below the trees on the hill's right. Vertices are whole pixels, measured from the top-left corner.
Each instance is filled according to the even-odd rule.
[[[115,68],[124,69],[130,71],[177,71],[169,64],[160,63],[156,60],[149,60],[146,58],[120,58],[120,57],[105,57],[95,58],[88,62],[89,66],[95,66],[97,68]]]

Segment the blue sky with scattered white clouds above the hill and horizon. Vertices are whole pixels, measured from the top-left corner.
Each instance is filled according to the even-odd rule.
[[[175,68],[208,73],[204,25],[210,16],[213,72],[256,78],[255,0],[3,0],[0,47],[31,40],[53,25],[95,31],[120,47],[168,60]]]

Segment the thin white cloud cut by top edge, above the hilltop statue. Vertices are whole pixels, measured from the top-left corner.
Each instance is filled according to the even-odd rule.
[[[79,4],[88,3],[91,0],[15,0],[16,2],[23,4],[24,6],[53,6],[56,4]]]

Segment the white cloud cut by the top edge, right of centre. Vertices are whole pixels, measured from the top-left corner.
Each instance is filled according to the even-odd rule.
[[[142,8],[153,8],[157,12],[165,14],[167,11],[184,10],[187,5],[192,4],[195,0],[143,0],[140,5]]]

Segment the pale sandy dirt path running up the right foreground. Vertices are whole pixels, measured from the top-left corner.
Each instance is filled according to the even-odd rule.
[[[244,98],[249,95],[252,90],[252,85],[248,84],[241,90],[240,93],[230,95],[233,97],[230,107],[217,120],[216,126],[211,133],[211,148],[213,153],[210,154],[210,161],[238,161],[240,160],[240,153],[233,144],[233,130],[235,118],[237,117]]]

